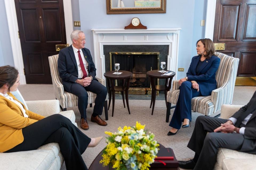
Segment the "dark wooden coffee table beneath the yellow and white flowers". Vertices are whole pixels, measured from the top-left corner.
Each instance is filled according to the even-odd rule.
[[[163,145],[159,144],[159,149],[165,148]],[[103,167],[102,164],[99,163],[99,161],[102,159],[103,150],[96,156],[96,158],[93,160],[93,163],[91,163],[89,170],[95,170],[95,169],[101,169],[101,170],[114,170],[112,167],[109,168],[109,166]],[[178,164],[177,159],[174,156],[173,164],[176,166]],[[179,170],[179,167],[175,168],[149,168],[150,170]]]

